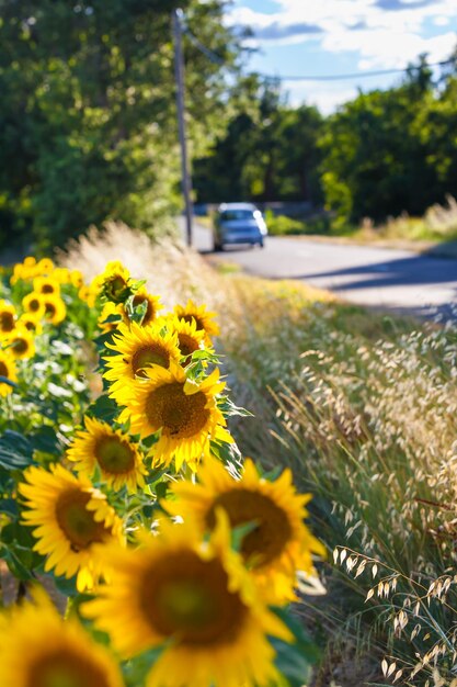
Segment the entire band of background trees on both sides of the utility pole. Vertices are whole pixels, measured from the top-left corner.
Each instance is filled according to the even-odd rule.
[[[336,222],[457,195],[456,60],[331,116],[243,72],[226,0],[0,0],[0,250],[91,224],[157,234],[181,207],[171,11],[185,38],[195,200],[310,201]]]

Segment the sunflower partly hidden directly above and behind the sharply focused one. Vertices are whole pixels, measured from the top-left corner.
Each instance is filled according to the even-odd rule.
[[[175,335],[164,333],[155,325],[141,327],[133,322],[128,327],[124,324],[118,327],[118,336],[113,336],[113,344],[106,348],[116,352],[115,356],[104,358],[108,370],[104,376],[114,382],[110,395],[119,402],[125,401],[125,384],[135,379],[145,378],[145,369],[150,365],[169,368],[171,361],[180,362],[180,349]]]

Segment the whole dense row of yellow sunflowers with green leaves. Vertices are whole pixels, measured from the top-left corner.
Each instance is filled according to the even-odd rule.
[[[324,551],[290,472],[238,450],[215,313],[121,262],[28,257],[0,297],[2,686],[306,684],[290,604]]]

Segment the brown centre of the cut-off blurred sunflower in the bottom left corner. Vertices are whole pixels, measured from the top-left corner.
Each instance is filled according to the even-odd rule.
[[[108,680],[89,657],[59,647],[33,662],[25,687],[108,687]]]

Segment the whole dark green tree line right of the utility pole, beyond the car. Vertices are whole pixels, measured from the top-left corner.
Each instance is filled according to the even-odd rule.
[[[311,201],[338,224],[422,214],[457,195],[456,58],[435,81],[421,57],[398,86],[328,117],[251,78],[249,106],[194,162],[197,201]]]

